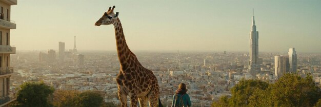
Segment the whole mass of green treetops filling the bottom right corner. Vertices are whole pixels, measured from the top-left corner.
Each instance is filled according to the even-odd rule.
[[[321,92],[312,77],[284,74],[275,83],[241,80],[212,106],[320,106]],[[319,101],[319,102],[318,102]]]

